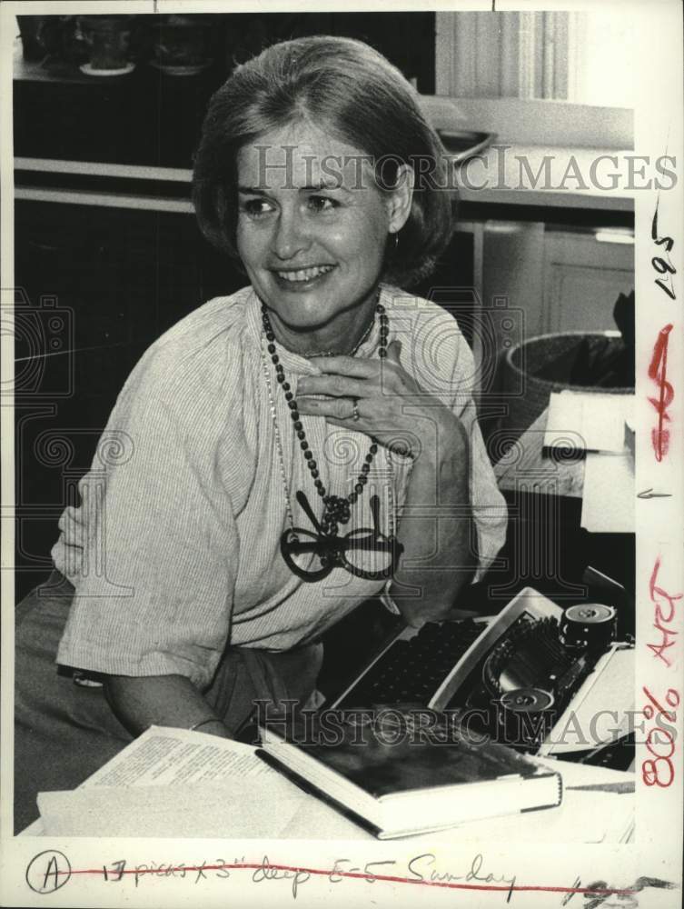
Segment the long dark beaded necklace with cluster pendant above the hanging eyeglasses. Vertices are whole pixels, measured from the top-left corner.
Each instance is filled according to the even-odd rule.
[[[387,336],[390,333],[389,319],[385,312],[385,307],[382,304],[378,303],[376,305],[375,312],[380,316],[380,346],[378,355],[381,357],[381,359],[384,359],[387,356]],[[306,466],[312,476],[316,492],[319,494],[323,502],[324,508],[320,521],[322,532],[329,536],[336,536],[339,530],[339,525],[347,524],[349,522],[352,514],[352,504],[354,504],[359,496],[363,493],[363,489],[368,483],[368,474],[371,470],[371,464],[373,458],[375,457],[375,454],[378,451],[378,441],[374,437],[371,438],[371,446],[369,448],[368,454],[365,456],[365,460],[361,468],[361,474],[359,474],[357,477],[352,492],[346,496],[330,494],[322,482],[320,472],[318,470],[318,464],[313,457],[311,447],[309,446],[309,442],[306,438],[306,433],[304,432],[302,421],[300,419],[299,410],[297,409],[297,402],[294,398],[294,394],[292,393],[292,386],[285,377],[283,365],[280,362],[280,356],[278,355],[274,344],[275,335],[273,334],[273,325],[271,325],[268,309],[264,304],[262,304],[262,322],[263,331],[266,336],[267,342],[266,349],[271,355],[271,362],[275,367],[276,381],[278,382],[278,385],[280,385],[283,389],[285,400],[287,401],[287,405],[290,408],[290,417],[292,419],[292,424],[294,425],[294,431],[297,434],[297,438],[299,439],[300,447],[306,461]],[[357,349],[360,345],[361,344],[357,345]],[[292,522],[292,508],[289,502],[288,516]]]

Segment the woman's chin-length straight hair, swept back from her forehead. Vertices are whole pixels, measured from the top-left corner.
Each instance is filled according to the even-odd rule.
[[[193,203],[203,234],[238,258],[237,155],[259,135],[305,118],[382,162],[385,185],[387,165],[390,174],[401,164],[420,172],[384,277],[408,287],[429,275],[451,237],[452,190],[440,139],[417,98],[382,54],[352,38],[284,41],[238,66],[209,103],[195,155]]]

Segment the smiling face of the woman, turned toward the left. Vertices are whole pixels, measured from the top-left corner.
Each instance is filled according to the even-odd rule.
[[[374,298],[388,232],[401,228],[408,207],[400,190],[378,189],[367,159],[305,123],[262,135],[238,155],[238,252],[290,331],[343,328]]]

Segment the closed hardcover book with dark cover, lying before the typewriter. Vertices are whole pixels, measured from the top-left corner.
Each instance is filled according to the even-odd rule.
[[[262,729],[260,754],[305,790],[332,800],[381,839],[560,804],[560,774],[505,745],[475,744],[457,726],[411,725],[388,711],[358,725],[335,714]],[[400,720],[397,724],[397,719]]]

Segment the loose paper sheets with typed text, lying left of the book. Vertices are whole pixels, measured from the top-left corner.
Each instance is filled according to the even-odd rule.
[[[220,836],[233,824],[275,832],[290,817],[281,804],[283,790],[292,811],[301,793],[255,752],[233,739],[150,726],[78,789],[39,794],[41,816],[19,835],[104,836],[119,830],[190,836],[195,830],[198,836]],[[252,777],[258,783],[245,786]],[[263,797],[264,785],[274,788],[271,798]],[[278,804],[282,810],[273,811]],[[217,811],[221,805],[229,806],[223,814]]]

